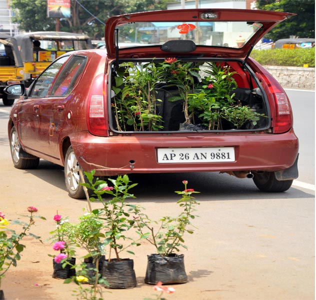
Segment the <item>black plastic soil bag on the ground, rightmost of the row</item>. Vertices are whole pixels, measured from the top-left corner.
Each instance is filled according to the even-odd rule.
[[[145,283],[156,284],[161,281],[162,284],[169,284],[185,283],[187,281],[183,254],[172,253],[168,256],[151,254],[147,257]]]

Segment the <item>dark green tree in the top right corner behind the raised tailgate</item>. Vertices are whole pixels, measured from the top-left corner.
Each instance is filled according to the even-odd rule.
[[[276,25],[264,37],[277,40],[296,37],[315,37],[315,0],[256,0],[258,9],[293,12],[297,15]]]

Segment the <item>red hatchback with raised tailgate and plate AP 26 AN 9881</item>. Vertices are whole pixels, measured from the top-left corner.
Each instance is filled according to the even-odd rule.
[[[13,105],[14,166],[35,168],[39,158],[64,166],[74,198],[84,197],[79,168],[97,176],[218,171],[287,190],[298,176],[291,106],[249,55],[292,15],[212,8],[110,17],[106,49],[58,57]]]

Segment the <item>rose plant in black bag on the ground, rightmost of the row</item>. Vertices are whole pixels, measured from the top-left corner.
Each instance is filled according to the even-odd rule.
[[[182,181],[184,190],[175,191],[181,195],[177,204],[181,212],[176,217],[162,216],[158,221],[152,221],[146,214],[137,211],[135,227],[138,234],[148,240],[156,253],[148,255],[145,283],[163,284],[184,283],[187,276],[184,268],[184,255],[177,254],[180,248],[186,249],[184,233],[193,233],[191,219],[194,219],[194,207],[199,204],[192,194],[198,193],[192,188],[187,188],[187,181]]]

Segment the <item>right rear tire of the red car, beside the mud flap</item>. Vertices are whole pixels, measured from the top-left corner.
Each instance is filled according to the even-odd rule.
[[[290,188],[293,180],[277,180],[274,172],[253,172],[253,182],[258,189],[267,192],[281,192]]]

